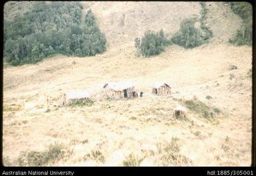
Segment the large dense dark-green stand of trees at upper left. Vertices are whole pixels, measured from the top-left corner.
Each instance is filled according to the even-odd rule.
[[[106,38],[89,10],[78,2],[35,2],[13,21],[4,21],[4,56],[12,65],[36,63],[56,53],[94,56],[106,50]]]

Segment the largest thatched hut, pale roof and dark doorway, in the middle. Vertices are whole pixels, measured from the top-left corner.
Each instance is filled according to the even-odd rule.
[[[103,86],[104,94],[108,98],[135,98],[138,93],[132,82],[107,82]]]

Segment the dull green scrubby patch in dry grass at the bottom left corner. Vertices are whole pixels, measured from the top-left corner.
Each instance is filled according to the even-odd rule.
[[[54,165],[72,155],[72,151],[63,143],[49,145],[45,151],[22,151],[17,160],[12,162],[15,166],[46,166]],[[9,162],[10,163],[10,162]]]

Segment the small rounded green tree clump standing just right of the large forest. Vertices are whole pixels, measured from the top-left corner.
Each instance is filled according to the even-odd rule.
[[[155,33],[154,31],[146,31],[144,37],[134,39],[137,54],[140,56],[154,56],[164,51],[166,46],[171,44],[171,41],[166,39],[164,31]]]

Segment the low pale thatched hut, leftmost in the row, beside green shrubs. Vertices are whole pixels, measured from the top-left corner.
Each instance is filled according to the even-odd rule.
[[[63,94],[61,104],[72,104],[74,102],[88,100],[89,98],[90,94],[86,90],[66,92]]]

